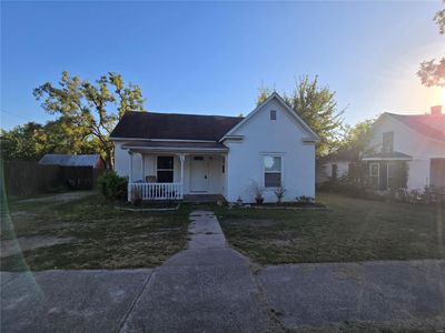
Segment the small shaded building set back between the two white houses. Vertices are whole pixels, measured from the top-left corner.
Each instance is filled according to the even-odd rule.
[[[349,173],[350,161],[354,159],[354,153],[348,150],[328,154],[317,160],[317,185],[322,185],[328,181],[336,181]]]

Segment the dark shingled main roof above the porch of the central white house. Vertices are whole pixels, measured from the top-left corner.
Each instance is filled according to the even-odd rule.
[[[112,139],[219,141],[241,117],[128,111],[112,130]]]

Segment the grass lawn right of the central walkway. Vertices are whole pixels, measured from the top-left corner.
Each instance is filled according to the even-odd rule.
[[[445,208],[319,193],[326,210],[216,208],[235,249],[261,264],[445,258]]]

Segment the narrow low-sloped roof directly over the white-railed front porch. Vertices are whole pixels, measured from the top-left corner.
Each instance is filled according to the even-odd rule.
[[[145,141],[122,144],[123,149],[145,152],[227,152],[220,142]]]

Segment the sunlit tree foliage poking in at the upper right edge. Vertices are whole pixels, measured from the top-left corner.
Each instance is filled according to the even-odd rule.
[[[434,21],[438,26],[439,33],[445,34],[445,9],[435,14]],[[436,59],[422,62],[417,75],[421,78],[422,84],[426,87],[445,87],[445,57],[437,62]]]

